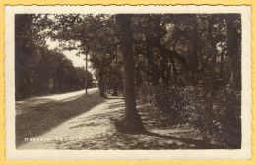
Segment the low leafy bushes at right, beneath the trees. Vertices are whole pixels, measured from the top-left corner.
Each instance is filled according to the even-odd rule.
[[[147,95],[151,92],[151,95]],[[193,126],[206,140],[241,145],[241,94],[231,88],[199,86],[141,89],[139,98]]]

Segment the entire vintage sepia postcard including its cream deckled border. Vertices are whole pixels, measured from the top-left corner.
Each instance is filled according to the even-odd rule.
[[[6,6],[7,160],[250,160],[250,6]]]

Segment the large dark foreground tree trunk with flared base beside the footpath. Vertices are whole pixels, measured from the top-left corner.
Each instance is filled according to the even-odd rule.
[[[121,29],[121,50],[124,63],[125,115],[122,125],[124,131],[137,133],[145,129],[136,109],[131,17],[132,15],[129,14],[119,14],[116,20]]]

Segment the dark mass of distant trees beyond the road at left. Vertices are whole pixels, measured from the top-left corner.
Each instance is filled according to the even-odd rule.
[[[36,38],[35,19],[34,15],[16,15],[15,19],[16,99],[85,88],[86,71]],[[93,87],[93,76],[87,74],[88,86]]]

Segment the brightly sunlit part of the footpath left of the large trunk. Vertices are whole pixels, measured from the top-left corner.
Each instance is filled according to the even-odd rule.
[[[107,99],[89,112],[68,120],[39,137],[27,138],[29,142],[18,149],[63,149],[77,146],[78,142],[83,145],[82,141],[107,134],[110,129],[108,115],[120,111],[122,104],[124,104],[123,99]],[[116,107],[111,108],[113,106]]]

